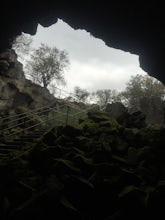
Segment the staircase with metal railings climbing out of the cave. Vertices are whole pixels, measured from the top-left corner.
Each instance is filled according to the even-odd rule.
[[[68,107],[68,103],[67,103],[67,107]],[[70,105],[69,107],[73,107],[73,106]],[[77,123],[80,115],[82,113],[84,114],[84,112],[87,110],[80,110],[75,115],[71,115],[70,117],[72,119],[72,123]],[[28,149],[31,149],[32,146],[35,145],[37,141],[41,138],[41,136],[48,130],[47,123],[49,123],[50,120],[51,121],[54,120],[57,126],[59,124],[66,124],[68,122],[68,120],[64,120],[63,122],[61,120],[58,120],[59,114],[57,118],[49,118],[49,113],[53,111],[58,112],[60,114],[60,111],[59,110],[57,111],[55,107],[53,108],[43,107],[40,109],[36,109],[35,111],[26,112],[26,114],[18,114],[14,117],[9,116],[5,118],[0,118],[0,126],[1,126],[0,127],[0,161],[2,159],[5,159],[6,157],[15,158],[16,155],[21,154]],[[64,115],[63,112],[61,112],[61,114]],[[44,115],[44,120],[42,118],[43,115]],[[40,119],[39,123],[38,122],[31,123],[31,120],[33,120],[33,116],[39,117]],[[68,112],[66,112],[65,117],[67,119]],[[2,124],[4,124],[4,121],[7,121],[7,123],[5,124],[5,128],[2,128],[3,127]],[[14,126],[13,126],[13,122],[14,122]],[[20,129],[20,126],[21,126],[21,130],[19,132],[12,133],[13,128]],[[5,135],[6,136],[5,138],[2,135],[3,133],[5,133],[4,131],[8,132],[8,135]],[[19,135],[17,135],[17,133],[19,133]],[[14,138],[15,134],[16,137]]]

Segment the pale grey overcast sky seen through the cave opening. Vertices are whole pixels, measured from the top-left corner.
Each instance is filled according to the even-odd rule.
[[[68,52],[67,86],[61,88],[69,92],[75,86],[90,92],[97,89],[121,91],[131,75],[146,75],[139,67],[138,56],[107,47],[101,39],[85,30],[74,30],[62,20],[48,28],[38,26],[32,46],[37,48],[40,43]]]

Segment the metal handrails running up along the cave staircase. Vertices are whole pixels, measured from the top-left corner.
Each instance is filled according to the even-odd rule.
[[[74,106],[68,101],[64,101],[64,104],[58,107],[66,107],[66,112],[61,112],[60,109],[57,110],[57,105],[55,105],[54,107],[44,106],[24,113],[0,118],[0,142],[5,142],[6,138],[12,139],[15,136],[23,137],[27,131],[33,131],[33,129],[36,129],[38,126],[41,127],[41,125],[46,127],[50,122],[57,122],[60,125],[66,125],[70,122],[78,123],[82,114],[86,114],[89,110],[95,108],[93,106],[80,110],[78,113],[71,114],[70,108],[74,109]],[[75,109],[77,110],[77,108]],[[63,120],[60,119],[61,117]]]

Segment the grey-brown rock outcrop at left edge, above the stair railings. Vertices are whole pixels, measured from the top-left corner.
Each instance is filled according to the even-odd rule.
[[[22,64],[13,50],[0,54],[0,111],[18,107],[34,109],[54,103],[49,91],[25,79]]]

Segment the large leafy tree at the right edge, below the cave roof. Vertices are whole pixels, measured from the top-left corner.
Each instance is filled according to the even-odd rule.
[[[165,86],[150,76],[136,75],[120,94],[130,112],[142,111],[149,123],[164,123]]]

